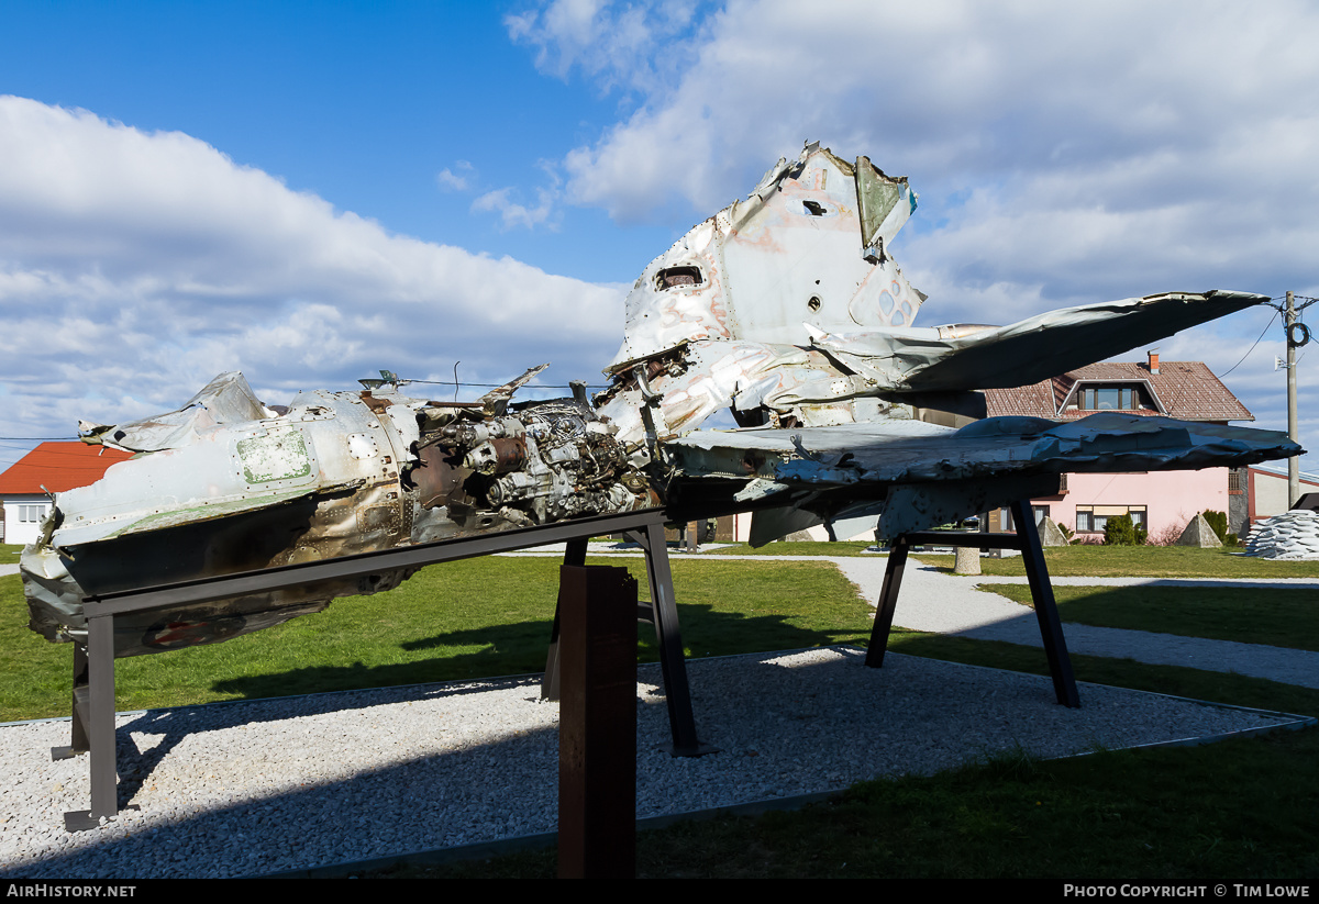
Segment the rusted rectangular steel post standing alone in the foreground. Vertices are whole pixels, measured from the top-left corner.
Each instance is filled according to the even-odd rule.
[[[636,876],[637,582],[559,573],[559,878]]]

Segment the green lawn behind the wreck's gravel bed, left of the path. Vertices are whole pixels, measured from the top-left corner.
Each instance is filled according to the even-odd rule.
[[[646,594],[641,559],[627,567]],[[481,557],[431,565],[373,597],[224,643],[117,660],[116,706],[146,709],[545,669],[559,560]],[[827,563],[673,563],[689,656],[864,642],[868,606]],[[17,576],[0,577],[0,721],[69,713],[71,644],[26,627]],[[641,659],[654,634],[641,626]]]

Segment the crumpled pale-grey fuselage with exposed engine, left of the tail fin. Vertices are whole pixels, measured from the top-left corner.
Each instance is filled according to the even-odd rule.
[[[83,592],[656,505],[646,477],[588,403],[509,406],[513,387],[466,405],[409,399],[393,387],[302,393],[282,414],[231,422],[224,418],[235,410],[264,410],[231,373],[178,412],[98,428],[94,439],[120,448],[158,445],[162,432],[174,445],[59,494],[46,535],[24,553],[33,630],[78,639]],[[123,617],[116,655],[226,639],[405,577],[390,572],[137,622]]]

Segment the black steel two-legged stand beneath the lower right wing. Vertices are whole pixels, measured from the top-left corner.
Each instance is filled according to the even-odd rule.
[[[1045,550],[1039,543],[1039,530],[1030,510],[1029,499],[1012,503],[1012,518],[1016,534],[956,534],[952,531],[923,531],[904,534],[893,540],[889,548],[889,567],[884,572],[884,586],[874,609],[874,627],[871,630],[871,646],[865,651],[865,664],[872,668],[884,665],[884,652],[893,630],[893,613],[898,605],[898,589],[902,586],[902,572],[906,568],[907,551],[913,546],[938,543],[942,546],[987,547],[996,550],[1021,550],[1026,565],[1026,579],[1030,582],[1030,596],[1035,601],[1035,618],[1039,621],[1039,635],[1049,659],[1049,673],[1054,680],[1054,696],[1063,706],[1080,706],[1076,693],[1076,677],[1072,675],[1071,658],[1067,655],[1067,642],[1063,639],[1063,625],[1058,617],[1058,604],[1049,582],[1049,568],[1045,564]]]

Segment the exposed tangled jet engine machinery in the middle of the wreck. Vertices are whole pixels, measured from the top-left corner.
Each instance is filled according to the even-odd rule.
[[[409,472],[418,502],[445,507],[464,530],[658,505],[646,476],[615,439],[616,428],[587,405],[528,403],[505,415],[430,410],[421,420],[418,466]]]

